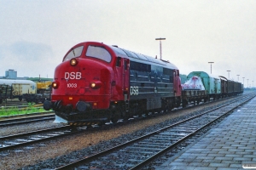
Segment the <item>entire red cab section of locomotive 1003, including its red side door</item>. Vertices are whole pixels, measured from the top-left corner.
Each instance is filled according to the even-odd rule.
[[[55,68],[52,99],[44,102],[44,109],[53,109],[67,122],[106,121],[119,100],[129,99],[127,77],[129,59],[115,58],[99,42],[80,43]]]

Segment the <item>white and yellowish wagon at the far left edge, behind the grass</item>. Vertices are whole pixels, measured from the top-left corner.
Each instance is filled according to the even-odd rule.
[[[9,80],[0,79],[1,85],[8,85],[11,88],[10,99],[22,100],[23,94],[35,94],[37,89],[37,84],[30,80]]]

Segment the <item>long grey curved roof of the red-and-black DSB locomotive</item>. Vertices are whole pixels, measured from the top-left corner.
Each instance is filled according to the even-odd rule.
[[[114,53],[117,56],[120,56],[120,57],[125,56],[125,57],[131,59],[132,61],[137,61],[140,63],[146,63],[146,64],[150,64],[150,65],[160,65],[162,67],[167,67],[167,68],[171,68],[171,69],[177,69],[176,65],[173,65],[169,61],[166,61],[163,59],[155,59],[154,57],[134,53],[134,52],[131,52],[131,51],[123,49],[123,48],[118,48],[117,46],[109,46],[109,47],[113,49]]]

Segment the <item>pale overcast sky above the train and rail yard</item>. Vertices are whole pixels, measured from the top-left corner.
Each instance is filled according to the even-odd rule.
[[[0,77],[53,77],[79,42],[160,56],[188,75],[207,71],[256,85],[255,0],[0,0]],[[255,82],[252,82],[255,81]]]

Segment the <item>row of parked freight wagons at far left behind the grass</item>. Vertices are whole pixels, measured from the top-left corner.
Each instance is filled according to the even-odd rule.
[[[27,102],[44,102],[50,99],[51,82],[0,79],[0,104],[6,99],[25,99]]]

